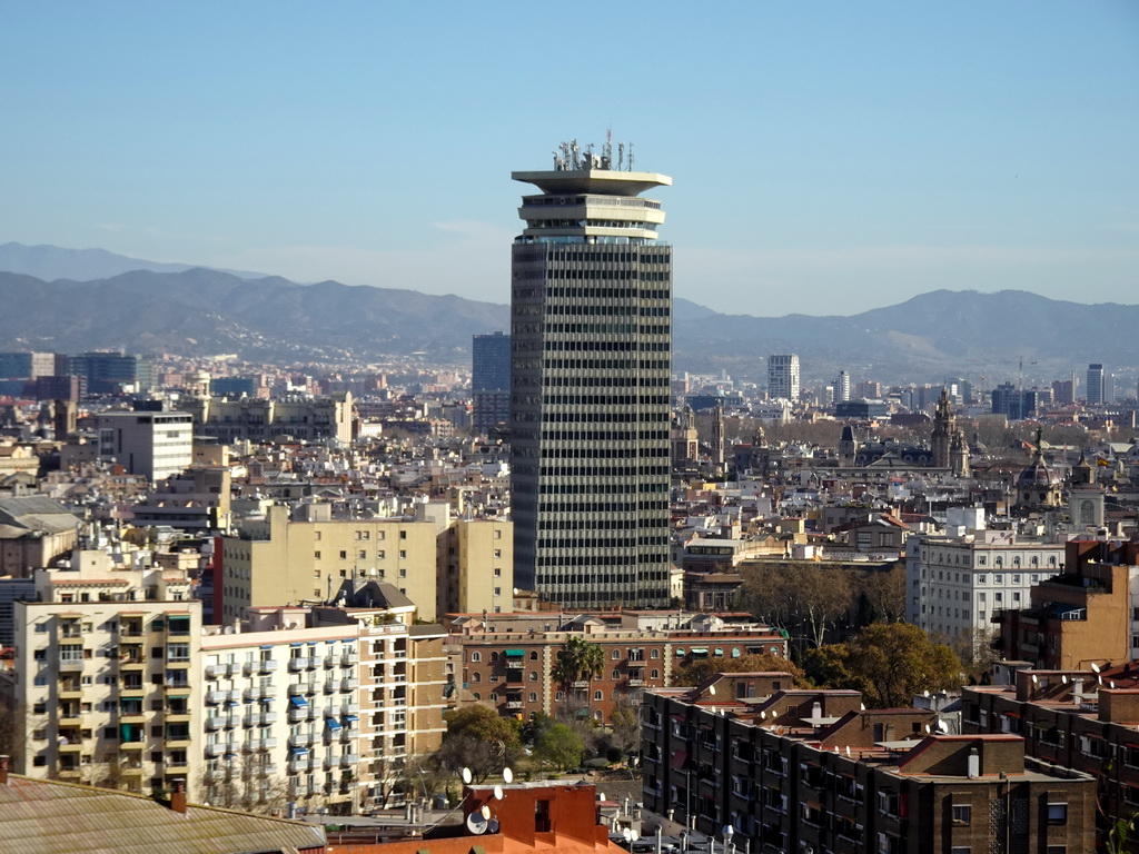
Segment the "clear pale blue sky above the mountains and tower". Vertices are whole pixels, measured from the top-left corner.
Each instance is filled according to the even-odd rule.
[[[1139,302],[1139,3],[7,2],[0,243],[509,301],[523,184],[633,141],[677,296]]]

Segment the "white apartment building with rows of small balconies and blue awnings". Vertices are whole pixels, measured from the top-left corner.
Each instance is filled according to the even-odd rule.
[[[203,786],[214,806],[349,814],[360,764],[355,625],[306,627],[304,608],[255,608],[211,626],[204,662]]]

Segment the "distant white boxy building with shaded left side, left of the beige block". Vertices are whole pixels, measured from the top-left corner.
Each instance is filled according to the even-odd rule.
[[[103,412],[99,457],[150,483],[194,462],[194,417],[186,412]]]

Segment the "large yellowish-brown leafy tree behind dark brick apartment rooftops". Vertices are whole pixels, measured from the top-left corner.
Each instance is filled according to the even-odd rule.
[[[812,650],[808,673],[828,688],[862,691],[868,706],[909,706],[915,695],[957,688],[961,662],[908,623],[875,623],[849,643]]]

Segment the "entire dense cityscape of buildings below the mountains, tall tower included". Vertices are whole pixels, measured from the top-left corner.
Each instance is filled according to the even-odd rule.
[[[466,364],[0,354],[23,791],[413,815],[482,709],[737,849],[1083,851],[1139,810],[1139,404],[1099,363],[674,373],[671,181],[620,156],[515,173],[510,334]],[[883,704],[811,664],[903,624],[969,679]]]

